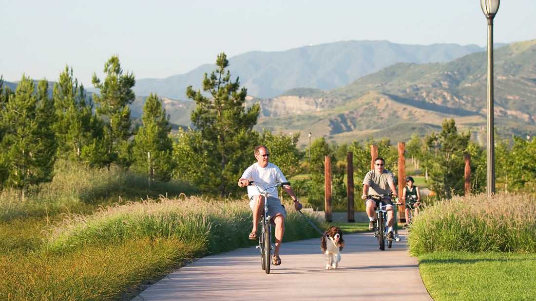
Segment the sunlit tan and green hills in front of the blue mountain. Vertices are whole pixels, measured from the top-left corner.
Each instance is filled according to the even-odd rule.
[[[498,134],[536,134],[536,40],[494,54]],[[262,108],[257,128],[311,132],[337,141],[369,135],[401,141],[413,132],[437,129],[444,118],[455,118],[460,130],[471,130],[473,138],[483,142],[486,72],[486,52],[450,63],[395,64],[331,91],[295,89],[256,99]]]

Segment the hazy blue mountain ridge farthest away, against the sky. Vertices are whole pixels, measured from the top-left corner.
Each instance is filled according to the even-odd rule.
[[[222,50],[225,51],[225,50]],[[331,90],[395,63],[446,62],[483,48],[477,45],[406,45],[388,41],[346,41],[300,47],[285,51],[250,51],[229,58],[229,70],[240,76],[248,94],[267,98],[304,87]],[[215,58],[214,58],[215,60]],[[200,88],[203,74],[215,66],[205,64],[185,74],[165,79],[138,79],[138,96],[185,99],[186,87]]]

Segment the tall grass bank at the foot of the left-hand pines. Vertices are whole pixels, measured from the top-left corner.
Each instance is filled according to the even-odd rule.
[[[70,161],[58,161],[54,179],[28,190],[25,201],[20,191],[6,188],[0,191],[0,221],[17,218],[48,217],[61,213],[87,213],[96,206],[110,205],[120,199],[142,199],[159,195],[178,196],[197,192],[180,181],[153,182],[151,187],[144,175],[112,167],[96,169]]]

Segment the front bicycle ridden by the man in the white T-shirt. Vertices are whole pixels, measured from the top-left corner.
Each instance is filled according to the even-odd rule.
[[[260,190],[259,186],[254,181],[249,181],[249,184],[255,184],[255,188],[257,188],[257,191],[260,195],[264,195],[264,211],[263,214],[260,215],[260,236],[259,236],[259,245],[256,246],[257,249],[260,249],[260,267],[266,272],[266,274],[270,274],[270,265],[272,264],[271,258],[272,258],[272,224],[270,223],[270,215],[268,215],[268,195],[270,195],[270,192],[273,192],[274,189],[277,187],[282,187],[284,185],[290,185],[290,182],[281,182],[276,183],[276,185],[265,188],[264,190]]]

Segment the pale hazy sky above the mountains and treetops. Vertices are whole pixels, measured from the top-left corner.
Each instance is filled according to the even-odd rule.
[[[503,0],[495,42],[536,38],[536,1]],[[0,74],[56,81],[65,65],[86,87],[111,55],[137,79],[166,78],[219,52],[281,51],[343,40],[486,45],[479,0],[0,0]]]

